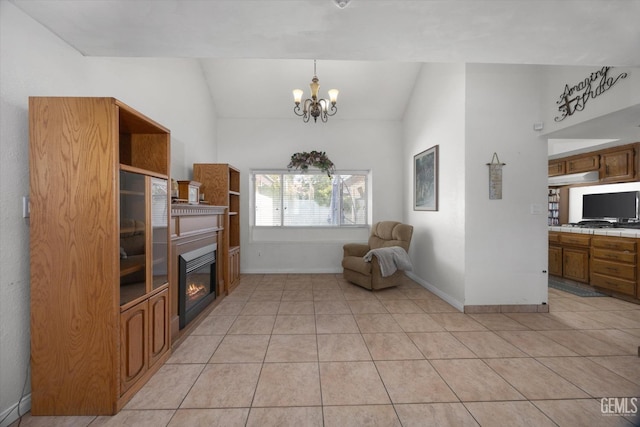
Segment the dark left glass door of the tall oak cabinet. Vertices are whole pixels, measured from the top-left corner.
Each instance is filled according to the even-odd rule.
[[[145,176],[120,171],[120,305],[146,293]]]

